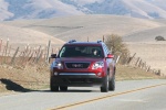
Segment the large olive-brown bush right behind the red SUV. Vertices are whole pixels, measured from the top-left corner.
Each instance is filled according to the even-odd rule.
[[[111,50],[112,54],[115,55],[115,57],[121,55],[118,61],[121,64],[126,63],[126,59],[129,57],[129,51],[121,36],[116,34],[107,35],[105,44]]]

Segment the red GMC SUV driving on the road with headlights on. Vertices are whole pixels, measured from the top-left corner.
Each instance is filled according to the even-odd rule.
[[[101,42],[70,41],[52,54],[51,91],[68,87],[100,86],[101,92],[115,89],[115,63],[107,46]]]

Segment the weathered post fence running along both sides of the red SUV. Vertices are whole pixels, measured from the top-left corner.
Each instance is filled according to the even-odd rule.
[[[45,46],[31,47],[30,45],[24,46],[24,48],[15,47],[13,48],[9,40],[3,42],[0,40],[0,65],[7,64],[12,66],[25,65],[48,65],[50,63],[50,55],[58,54],[61,46],[52,46],[51,41]],[[118,64],[121,59],[121,54],[115,56],[115,62]],[[141,57],[136,57],[136,53],[133,56],[127,57],[123,65],[129,65],[134,67],[142,68],[146,72],[160,75],[159,69],[153,69],[151,65],[147,65]]]

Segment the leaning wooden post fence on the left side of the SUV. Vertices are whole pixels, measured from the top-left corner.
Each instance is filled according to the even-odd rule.
[[[31,47],[27,45],[24,47],[13,48],[9,40],[3,42],[0,40],[0,64],[8,65],[21,65],[27,64],[42,64],[49,63],[50,54],[58,53],[59,47],[51,47],[51,41],[49,41],[46,46]]]

